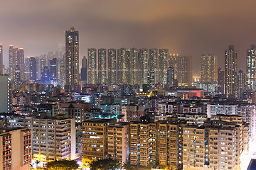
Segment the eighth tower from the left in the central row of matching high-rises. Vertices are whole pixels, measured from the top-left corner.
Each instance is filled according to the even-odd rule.
[[[159,49],[159,84],[165,86],[167,84],[167,72],[169,69],[169,50]]]

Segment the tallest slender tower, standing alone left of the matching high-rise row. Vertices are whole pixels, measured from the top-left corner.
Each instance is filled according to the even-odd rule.
[[[65,71],[66,85],[78,85],[79,38],[74,27],[65,31]]]

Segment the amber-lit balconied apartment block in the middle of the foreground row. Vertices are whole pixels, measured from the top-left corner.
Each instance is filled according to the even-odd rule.
[[[130,164],[154,165],[175,169],[182,164],[182,123],[158,121],[157,123],[130,124]]]

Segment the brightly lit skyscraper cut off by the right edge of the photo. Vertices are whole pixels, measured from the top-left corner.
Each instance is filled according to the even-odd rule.
[[[256,89],[256,45],[251,45],[246,55],[246,83],[248,90]]]

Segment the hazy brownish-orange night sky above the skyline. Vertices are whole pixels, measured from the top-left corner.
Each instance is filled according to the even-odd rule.
[[[80,33],[80,60],[89,47],[164,47],[191,55],[199,73],[203,53],[218,55],[223,67],[228,45],[245,70],[246,49],[256,43],[255,0],[1,0],[0,43],[26,56],[64,44],[65,30]]]

